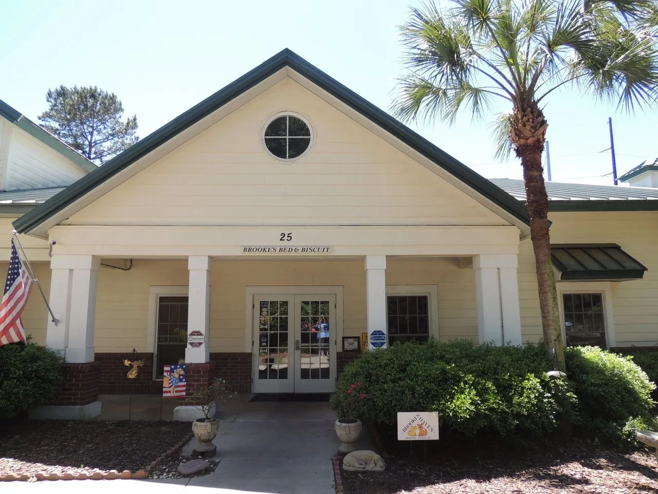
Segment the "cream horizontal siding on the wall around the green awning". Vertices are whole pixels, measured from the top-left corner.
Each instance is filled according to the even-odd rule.
[[[550,219],[553,244],[615,243],[647,267],[644,279],[611,283],[615,334],[617,346],[658,344],[658,213],[562,212],[551,213]],[[521,242],[519,252],[523,337],[536,341],[542,325],[529,239]]]

